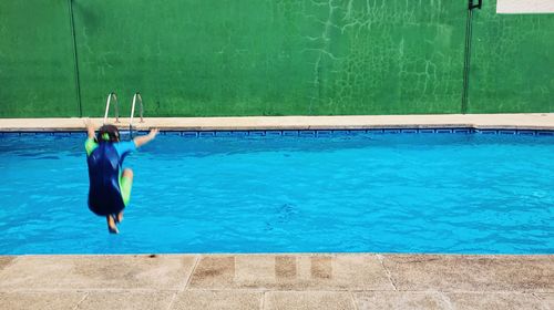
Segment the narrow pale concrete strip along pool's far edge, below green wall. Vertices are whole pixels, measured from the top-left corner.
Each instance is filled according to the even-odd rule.
[[[96,125],[102,118],[92,118]],[[114,123],[110,118],[110,123]],[[129,118],[120,118],[129,127]],[[135,118],[138,130],[158,127],[179,131],[245,130],[357,130],[392,127],[473,127],[509,130],[554,130],[554,113],[544,114],[444,114],[359,116],[252,116],[252,117],[146,117]],[[83,118],[0,118],[0,131],[83,131]]]

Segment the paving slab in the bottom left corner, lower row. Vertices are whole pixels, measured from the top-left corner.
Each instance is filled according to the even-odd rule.
[[[75,309],[86,292],[0,292],[0,309]]]

